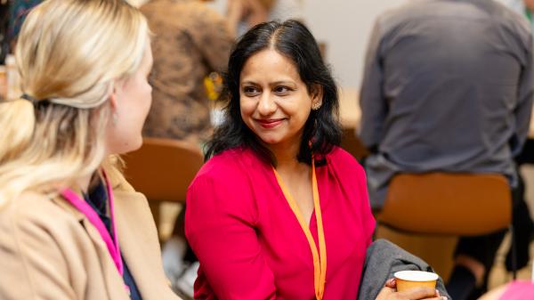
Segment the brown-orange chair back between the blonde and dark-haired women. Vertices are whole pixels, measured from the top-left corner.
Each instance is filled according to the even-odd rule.
[[[123,156],[125,177],[149,199],[159,228],[162,202],[185,202],[187,188],[204,163],[196,144],[162,138],[144,138],[141,149]]]

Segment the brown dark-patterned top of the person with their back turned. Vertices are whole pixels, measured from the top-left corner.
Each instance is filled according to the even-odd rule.
[[[223,70],[233,37],[223,19],[197,0],[153,0],[141,8],[154,32],[154,102],[146,136],[203,141],[211,133],[204,78]]]

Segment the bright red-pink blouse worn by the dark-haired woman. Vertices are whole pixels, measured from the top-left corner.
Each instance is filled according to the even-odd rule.
[[[356,299],[375,220],[360,164],[340,148],[326,161],[317,166],[328,255],[323,299]],[[200,261],[195,299],[315,298],[310,244],[271,166],[252,150],[226,150],[202,167],[185,220]],[[310,230],[318,244],[315,213]]]

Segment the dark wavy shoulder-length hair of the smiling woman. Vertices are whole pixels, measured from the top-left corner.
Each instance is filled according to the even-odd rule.
[[[312,93],[317,85],[323,89],[320,109],[312,110],[304,124],[297,159],[311,164],[312,152],[327,154],[332,146],[341,142],[336,82],[322,60],[315,38],[299,21],[270,21],[248,30],[232,49],[228,70],[223,74],[223,93],[220,97],[220,101],[226,102],[223,123],[215,128],[211,140],[206,143],[206,160],[223,150],[247,146],[276,166],[274,155],[241,118],[239,107],[241,70],[251,56],[265,49],[274,49],[295,63],[308,93]]]

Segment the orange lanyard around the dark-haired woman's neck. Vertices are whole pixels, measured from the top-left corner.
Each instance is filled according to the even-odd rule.
[[[286,197],[287,203],[293,214],[295,214],[298,223],[300,223],[306,239],[310,244],[310,249],[312,250],[313,257],[313,286],[315,287],[315,297],[317,300],[321,300],[325,292],[325,283],[327,277],[327,246],[325,244],[325,231],[322,224],[322,214],[320,212],[320,199],[319,199],[319,190],[317,188],[317,176],[315,175],[315,159],[312,158],[312,191],[313,191],[313,207],[315,208],[315,219],[317,220],[317,235],[319,236],[319,250],[320,254],[317,253],[317,246],[315,245],[315,240],[312,237],[312,231],[308,227],[308,223],[303,219],[295,199],[289,193],[282,178],[276,172],[276,169],[273,167],[274,175],[276,176],[277,181],[279,182],[280,189]]]

